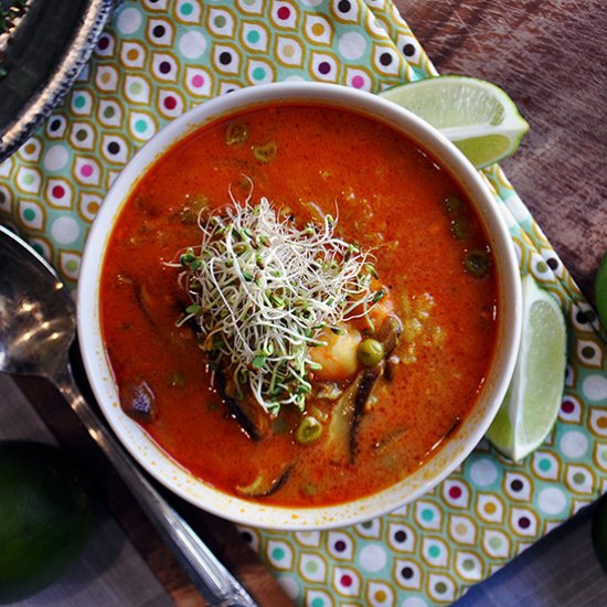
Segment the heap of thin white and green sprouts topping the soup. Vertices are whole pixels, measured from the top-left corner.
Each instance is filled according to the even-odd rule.
[[[239,394],[248,384],[273,415],[287,404],[303,409],[319,331],[366,315],[377,299],[365,269],[373,258],[336,237],[329,215],[298,230],[265,198],[231,199],[200,216],[202,242],[169,264],[191,300],[179,323],[195,321],[210,369],[230,370]]]

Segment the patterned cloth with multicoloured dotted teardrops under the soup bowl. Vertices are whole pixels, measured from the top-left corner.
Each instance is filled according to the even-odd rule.
[[[0,164],[0,219],[74,286],[88,226],[135,151],[184,110],[271,81],[372,92],[435,75],[391,0],[127,1],[64,106]],[[432,493],[328,532],[243,529],[301,605],[448,604],[605,489],[606,347],[596,315],[499,167],[482,173],[521,271],[568,323],[558,423],[519,465],[482,443]]]

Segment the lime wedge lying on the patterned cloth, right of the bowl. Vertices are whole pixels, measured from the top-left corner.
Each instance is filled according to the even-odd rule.
[[[514,461],[552,430],[565,386],[567,333],[561,306],[532,276],[523,287],[523,334],[514,375],[487,438]]]

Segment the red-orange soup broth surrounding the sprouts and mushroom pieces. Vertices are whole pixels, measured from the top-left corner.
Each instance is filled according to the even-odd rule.
[[[238,135],[242,125],[246,141],[228,145],[226,135]],[[259,149],[269,149],[269,158]],[[403,322],[398,362],[362,416],[353,460],[326,454],[322,436],[298,444],[292,428],[253,441],[212,385],[192,329],[175,326],[188,300],[179,270],[166,263],[200,243],[190,216],[196,201],[224,206],[228,191],[243,201],[252,184],[252,201],[266,196],[298,223],[318,209],[338,214],[338,234],[373,249]],[[473,249],[489,252],[464,192],[387,126],[299,104],[206,125],[140,179],[109,237],[100,315],[121,398],[145,382],[157,411],[141,423],[146,432],[183,468],[227,493],[238,494],[259,475],[278,477],[286,466],[286,482],[257,499],[318,507],[374,493],[432,457],[478,400],[493,358],[498,287],[492,267],[481,278],[466,271],[465,255]]]

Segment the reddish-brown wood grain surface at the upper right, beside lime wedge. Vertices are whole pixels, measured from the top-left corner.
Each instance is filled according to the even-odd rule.
[[[441,74],[504,88],[531,125],[502,162],[593,300],[607,247],[607,11],[603,0],[396,0]]]

